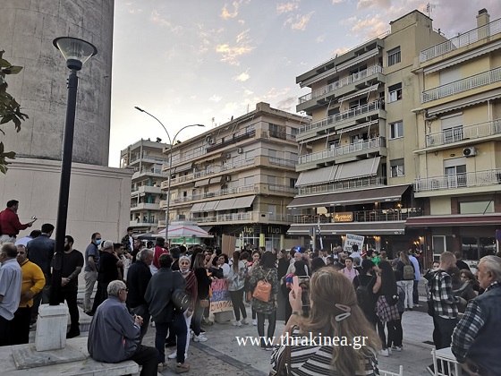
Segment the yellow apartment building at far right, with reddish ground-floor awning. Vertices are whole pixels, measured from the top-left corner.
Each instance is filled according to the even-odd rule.
[[[477,28],[423,48],[415,197],[410,218],[429,259],[463,251],[478,260],[497,249],[501,223],[501,19],[477,15]]]

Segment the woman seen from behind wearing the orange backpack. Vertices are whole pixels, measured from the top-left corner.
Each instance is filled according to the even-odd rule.
[[[267,302],[252,297],[252,310],[258,313],[258,334],[261,338],[261,348],[271,350],[272,345],[267,340],[273,341],[276,328],[276,309],[278,308],[278,276],[275,268],[275,255],[264,252],[259,266],[252,271],[250,288],[254,291],[258,281],[267,280],[271,285],[271,294]],[[267,315],[267,340],[265,339],[265,316]]]

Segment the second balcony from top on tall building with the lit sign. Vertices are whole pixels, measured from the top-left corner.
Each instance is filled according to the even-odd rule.
[[[384,111],[382,104],[379,102],[379,100],[375,100],[374,102],[368,103],[366,105],[354,107],[348,111],[328,116],[327,118],[318,120],[317,122],[301,125],[299,134],[296,136],[296,139],[298,141],[306,140],[308,139],[308,137],[314,135],[311,133],[304,134],[306,132],[325,131],[328,128],[332,128],[333,126],[335,126],[336,129],[344,128],[344,126],[347,127],[349,125],[352,125],[358,120],[363,119],[365,121],[366,117],[373,115],[375,117],[386,117],[385,115],[383,115],[383,112],[380,111]],[[346,130],[346,132],[348,131],[349,129]]]

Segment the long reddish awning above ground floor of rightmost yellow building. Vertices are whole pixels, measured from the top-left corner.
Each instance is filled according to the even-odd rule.
[[[440,227],[440,226],[483,226],[499,225],[499,214],[458,214],[451,216],[420,216],[407,218],[406,227]]]

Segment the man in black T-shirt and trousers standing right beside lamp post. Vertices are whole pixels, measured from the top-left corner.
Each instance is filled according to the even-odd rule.
[[[68,304],[71,326],[66,338],[80,336],[79,312],[77,305],[78,275],[83,268],[83,256],[73,249],[74,239],[70,235],[64,237],[63,269],[61,270],[61,290],[59,302]]]

